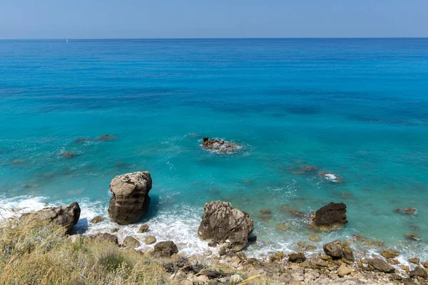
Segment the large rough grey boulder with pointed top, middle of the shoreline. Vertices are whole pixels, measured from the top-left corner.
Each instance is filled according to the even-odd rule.
[[[254,222],[249,214],[228,202],[215,201],[205,204],[198,235],[211,242],[229,242],[231,249],[239,252],[247,245],[253,229]]]

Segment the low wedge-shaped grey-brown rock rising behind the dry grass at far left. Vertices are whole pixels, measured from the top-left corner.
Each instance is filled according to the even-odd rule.
[[[44,208],[34,213],[23,214],[21,219],[29,218],[31,220],[40,220],[54,222],[61,227],[65,227],[67,233],[77,224],[80,217],[81,209],[77,202],[69,206]]]

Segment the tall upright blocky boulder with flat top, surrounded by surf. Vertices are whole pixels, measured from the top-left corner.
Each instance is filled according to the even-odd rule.
[[[148,210],[152,180],[149,172],[118,175],[111,180],[108,215],[118,224],[132,224]]]

